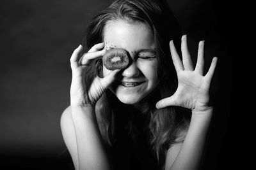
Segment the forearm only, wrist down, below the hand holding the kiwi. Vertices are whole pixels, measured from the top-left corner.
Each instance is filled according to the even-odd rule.
[[[79,170],[109,169],[109,161],[100,135],[95,107],[71,106],[76,132]]]

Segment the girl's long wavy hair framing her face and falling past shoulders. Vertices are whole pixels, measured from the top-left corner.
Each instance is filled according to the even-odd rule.
[[[155,107],[157,101],[171,96],[173,90],[177,88],[177,74],[170,55],[169,41],[173,39],[176,44],[180,44],[181,29],[172,11],[168,8],[168,4],[164,1],[116,0],[93,18],[86,30],[82,45],[89,49],[104,41],[104,28],[107,22],[120,19],[131,24],[138,22],[145,24],[152,32],[156,44],[159,83],[147,97],[147,102],[141,106],[142,118],[138,118],[138,111],[131,110],[131,107],[118,101],[116,96],[107,90],[96,105],[100,133],[107,145],[113,145],[118,121],[125,119],[127,133],[136,139],[138,134],[136,132],[142,121],[143,128],[148,132],[149,145],[156,153],[159,167],[163,168],[168,148],[173,143],[182,141],[177,138],[180,132],[186,129],[187,120],[189,120],[182,113],[176,114],[177,111],[172,106],[159,110]],[[103,76],[101,59],[95,62],[93,70],[95,74],[91,76]],[[120,112],[122,118],[118,117]]]

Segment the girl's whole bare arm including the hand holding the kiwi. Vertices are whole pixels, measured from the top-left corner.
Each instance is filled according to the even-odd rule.
[[[108,170],[110,162],[100,135],[95,115],[95,103],[108,86],[115,80],[118,70],[104,78],[95,77],[92,82],[85,77],[90,64],[104,55],[104,43],[93,46],[88,53],[81,53],[79,46],[72,57],[72,83],[70,88],[70,107],[61,117],[61,130],[68,151],[77,170]],[[81,59],[79,59],[81,56]],[[91,73],[92,74],[92,73]]]

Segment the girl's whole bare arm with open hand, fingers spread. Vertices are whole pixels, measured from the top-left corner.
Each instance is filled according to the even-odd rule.
[[[186,36],[182,36],[182,60],[180,60],[173,42],[170,41],[170,51],[179,85],[173,96],[162,99],[156,104],[157,108],[181,106],[192,111],[184,143],[176,144],[168,150],[166,170],[198,169],[212,117],[212,107],[209,106],[209,88],[217,58],[212,59],[209,71],[204,75],[204,41],[200,41],[198,45],[198,59],[194,69],[186,40]]]

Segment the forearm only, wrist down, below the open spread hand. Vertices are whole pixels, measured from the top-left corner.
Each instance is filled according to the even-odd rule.
[[[204,113],[193,113],[192,111],[188,133],[170,170],[198,169],[211,117],[212,108]]]

